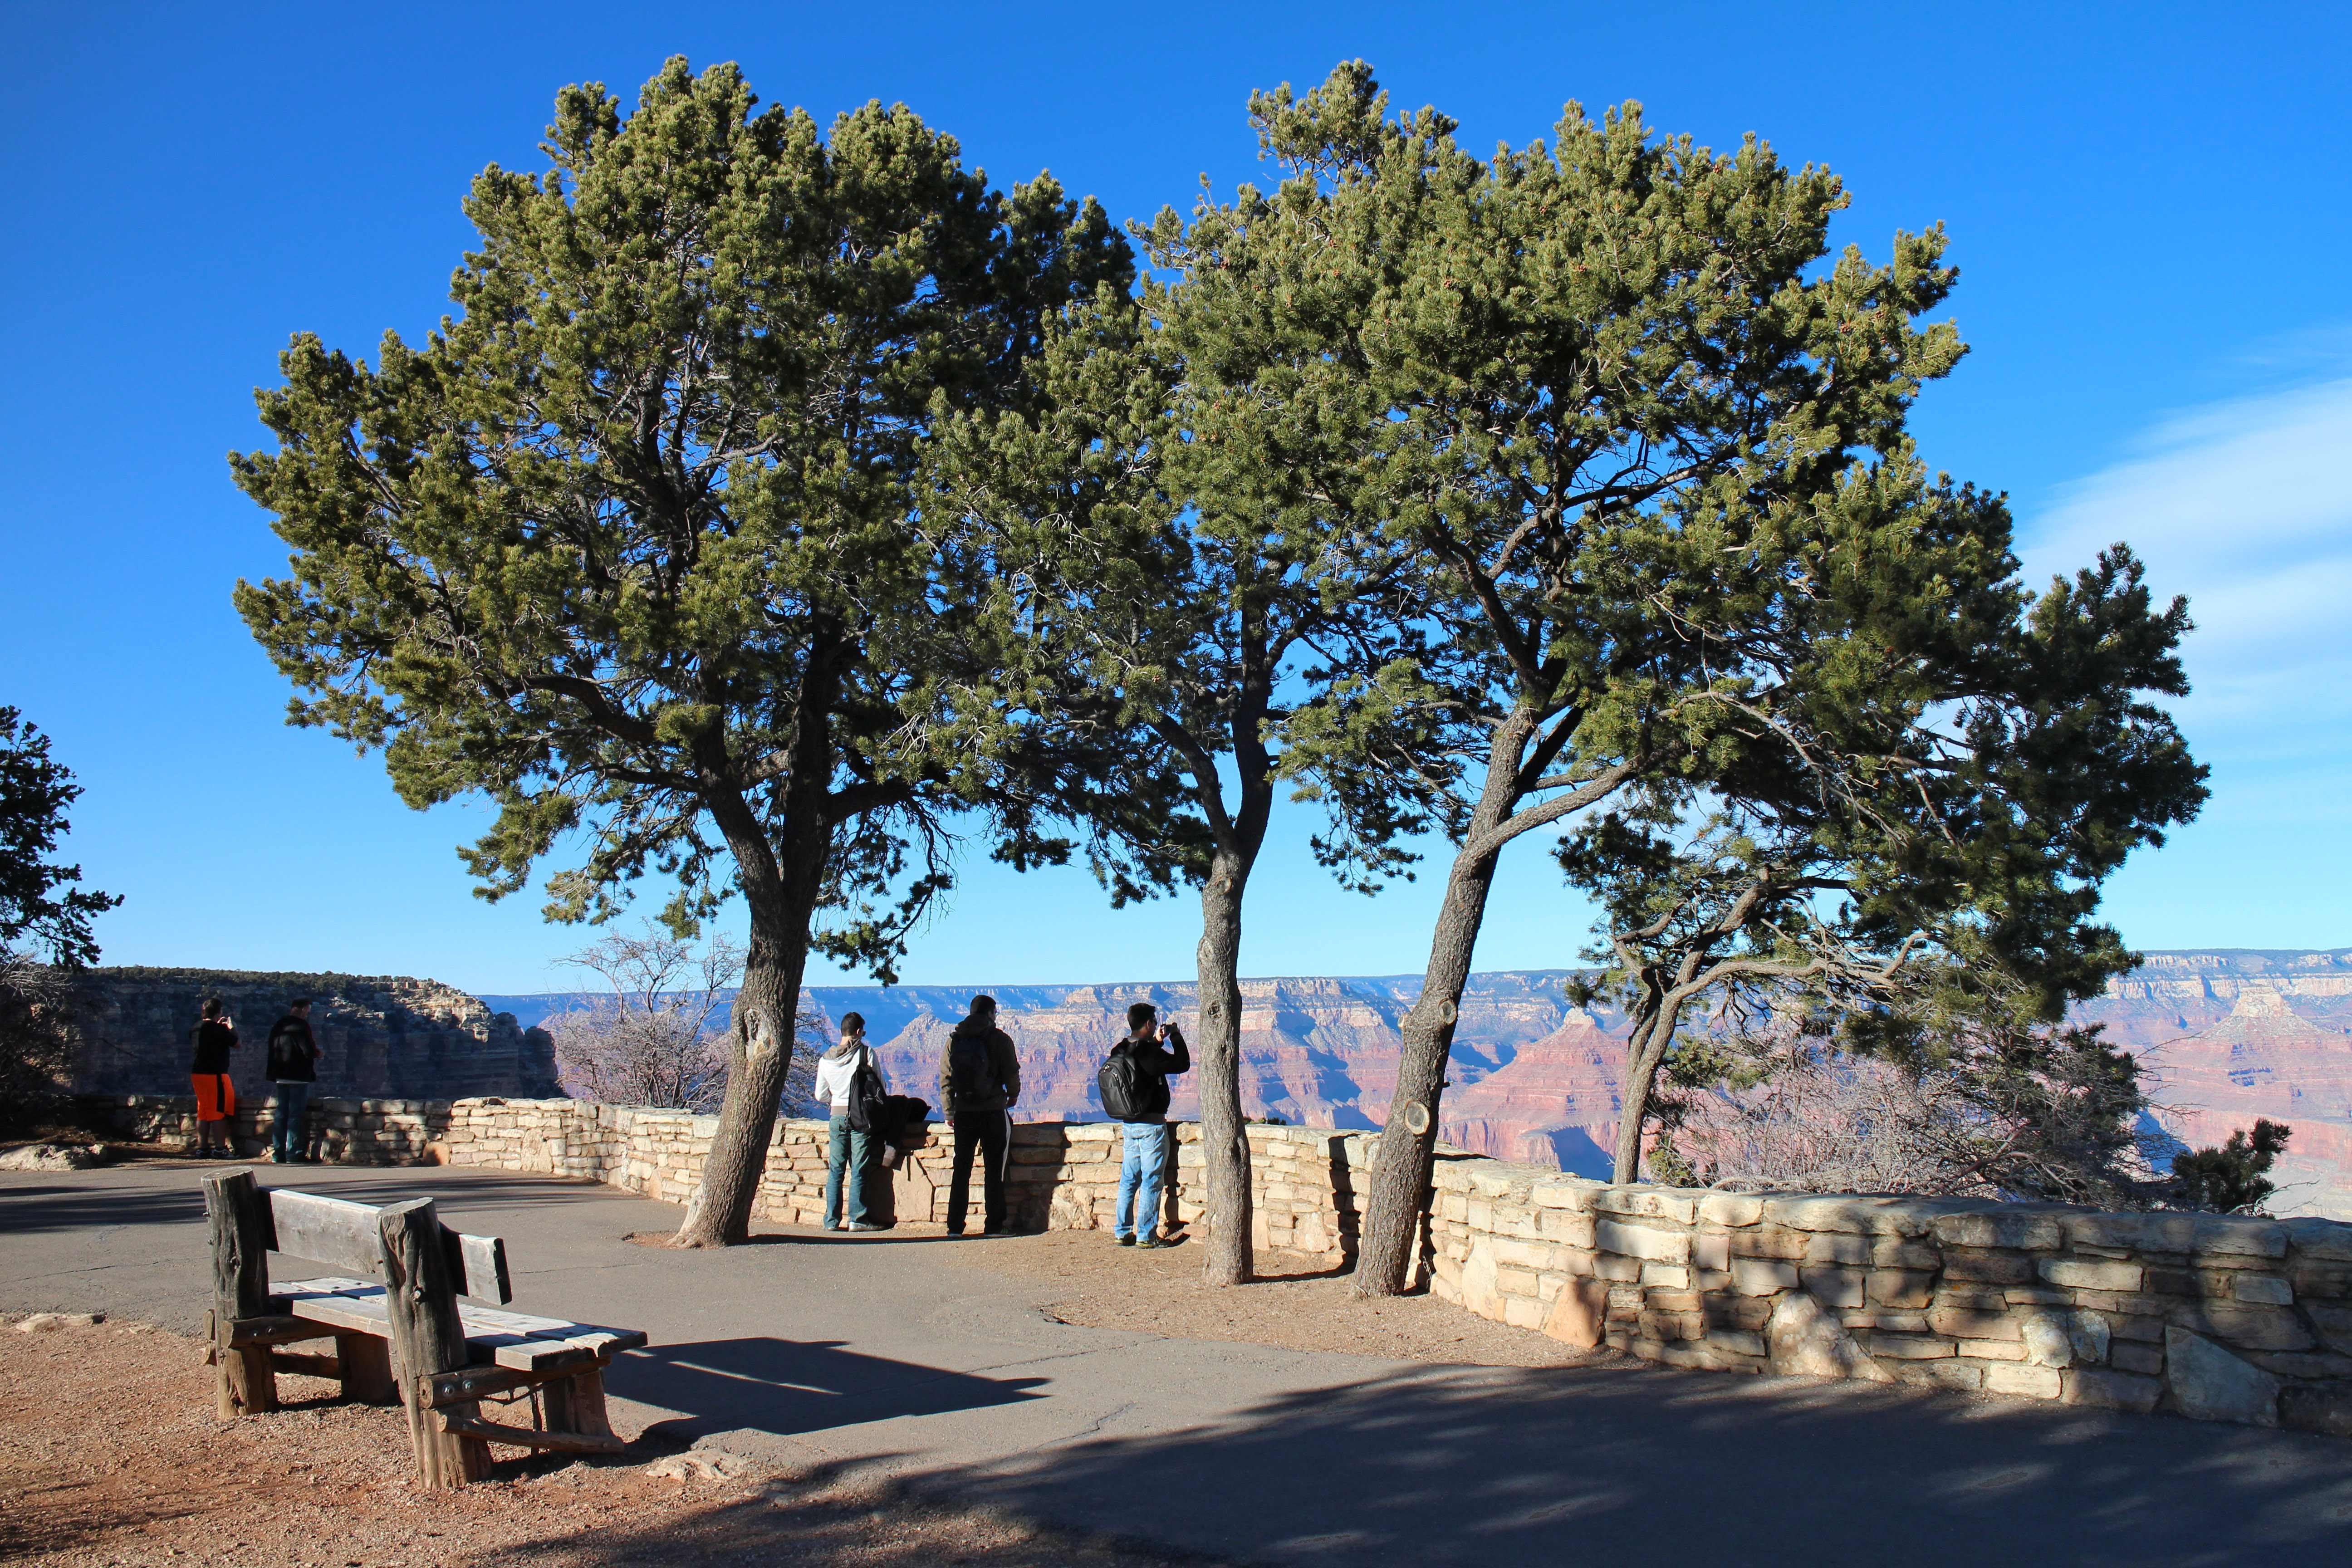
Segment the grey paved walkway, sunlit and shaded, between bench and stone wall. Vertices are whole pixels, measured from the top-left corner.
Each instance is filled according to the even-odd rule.
[[[198,1173],[0,1175],[0,1307],[193,1331]],[[670,1253],[623,1237],[675,1227],[675,1208],[586,1182],[256,1173],[440,1199],[454,1225],[508,1239],[517,1309],[649,1331],[612,1371],[623,1425],[1164,1547],[1362,1568],[2352,1561],[2340,1439],[1804,1380],[1162,1340],[1051,1321],[1035,1284],[936,1255],[1021,1241],[786,1232]],[[626,1561],[628,1540],[609,1549]]]

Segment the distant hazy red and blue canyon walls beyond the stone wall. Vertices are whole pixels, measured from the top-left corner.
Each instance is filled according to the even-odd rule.
[[[1623,1023],[1559,992],[1569,969],[1470,978],[1442,1103],[1446,1143],[1498,1159],[1606,1175],[1625,1070]],[[936,1098],[948,1030],[981,987],[818,985],[830,1020],[866,1016],[894,1088]],[[1192,1027],[1190,980],[1004,985],[997,1018],[1021,1051],[1023,1121],[1101,1119],[1094,1072],[1131,1001]],[[1399,1020],[1421,976],[1242,980],[1242,1100],[1251,1117],[1374,1128],[1402,1051]],[[524,1027],[581,992],[482,997]],[[2150,952],[2077,1009],[2147,1070],[2159,1121],[2190,1145],[2220,1143],[2256,1117],[2296,1128],[2274,1173],[2277,1213],[2352,1218],[2352,947]],[[1171,1114],[1197,1114],[1188,1079]]]

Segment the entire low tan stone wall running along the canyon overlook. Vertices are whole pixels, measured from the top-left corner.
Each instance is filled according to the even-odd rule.
[[[193,1140],[193,1100],[89,1100],[122,1133]],[[238,1117],[268,1133],[268,1107]],[[713,1117],[586,1100],[313,1100],[332,1161],[602,1180],[682,1204]],[[943,1222],[943,1128],[889,1215]],[[779,1121],[760,1215],[814,1225],[823,1121]],[[1371,1133],[1251,1126],[1254,1239],[1355,1255]],[[1108,1229],[1115,1124],[1016,1124],[1014,1229]],[[1200,1126],[1176,1128],[1167,1213],[1202,1218]],[[1430,1291],[1479,1316],[1668,1366],[2018,1394],[2352,1436],[2352,1225],[1907,1197],[1611,1187],[1439,1150]],[[880,1194],[875,1194],[880,1199]],[[969,1227],[978,1227],[978,1192]]]

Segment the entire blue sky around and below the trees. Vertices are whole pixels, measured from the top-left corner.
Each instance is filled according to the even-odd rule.
[[[1839,240],[1945,221],[1971,357],[1938,468],[2011,494],[2032,571],[2129,538],[2187,592],[2204,820],[2107,907],[2143,947],[2352,943],[2352,24],[2343,7],[0,5],[0,703],[87,785],[68,853],[127,896],[111,964],[430,973],[546,990],[590,933],[485,905],[381,766],[282,724],[238,576],[285,548],[228,482],[296,329],[374,353],[445,310],[487,162],[536,167],[564,82],[741,61],[821,120],[906,101],[997,181],[1115,216],[1258,176],[1251,87],[1378,66],[1472,148],[1566,99],[1759,132],[1853,190]],[[1336,891],[1277,827],[1244,973],[1418,971],[1435,882]],[[969,867],[908,980],[1190,973],[1195,910]],[[1585,910],[1522,842],[1482,969],[1559,966]]]

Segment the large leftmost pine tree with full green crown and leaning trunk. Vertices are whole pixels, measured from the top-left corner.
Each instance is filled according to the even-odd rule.
[[[983,820],[1016,863],[1058,773],[913,477],[941,414],[1028,388],[1047,322],[1134,277],[1094,202],[1009,195],[868,103],[830,134],[673,59],[633,115],[557,96],[553,167],[489,167],[454,320],[367,362],[299,336],[233,456],[294,545],[238,609],[296,724],[383,748],[412,806],[480,792],[482,893],[548,877],[607,919],[675,877],[689,936],[741,891],[727,1098],[680,1244],[748,1234],[807,954],[891,978]]]

